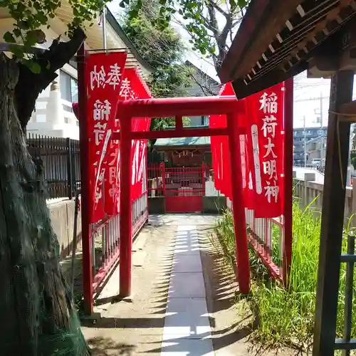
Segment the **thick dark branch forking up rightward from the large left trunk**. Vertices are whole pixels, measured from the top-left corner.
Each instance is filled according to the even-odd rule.
[[[85,33],[81,28],[73,32],[68,42],[53,41],[48,51],[37,56],[36,61],[41,66],[41,73],[33,73],[28,67],[19,65],[19,81],[15,88],[16,109],[21,127],[26,130],[31,118],[38,95],[57,78],[56,70],[70,61],[85,41]]]

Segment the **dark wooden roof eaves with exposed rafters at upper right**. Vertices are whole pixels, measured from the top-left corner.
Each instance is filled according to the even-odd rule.
[[[233,81],[236,97],[244,98],[306,69],[328,76],[355,46],[355,15],[354,0],[251,0],[219,78]]]

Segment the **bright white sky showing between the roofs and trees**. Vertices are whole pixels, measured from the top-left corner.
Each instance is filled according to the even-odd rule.
[[[115,14],[122,11],[119,0],[113,0],[108,4],[110,10]],[[182,19],[173,21],[172,26],[182,36],[187,48],[190,48],[189,33],[179,24]],[[192,62],[194,66],[207,73],[220,83],[216,75],[214,65],[208,58],[203,58],[200,53],[188,50],[185,59]],[[294,78],[294,106],[293,106],[293,126],[294,127],[318,127],[318,117],[320,108],[323,118],[323,126],[328,125],[330,79],[307,78],[306,72],[296,75]],[[321,100],[320,100],[321,98]],[[356,78],[354,81],[353,99],[356,99]]]

